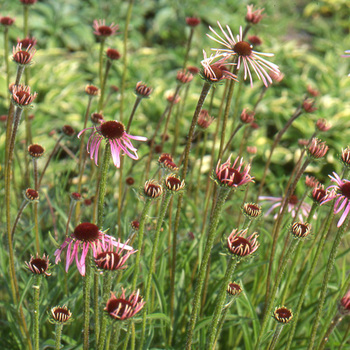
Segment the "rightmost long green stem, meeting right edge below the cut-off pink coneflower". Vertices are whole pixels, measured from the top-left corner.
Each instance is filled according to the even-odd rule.
[[[329,279],[331,277],[331,273],[333,271],[333,266],[335,263],[335,258],[337,256],[339,244],[343,238],[344,233],[346,232],[346,228],[348,227],[348,224],[349,224],[349,219],[350,219],[350,217],[347,216],[343,225],[341,225],[339,227],[337,235],[333,241],[332,250],[331,250],[331,253],[329,254],[329,259],[327,262],[326,272],[325,272],[324,277],[323,277],[320,298],[319,298],[318,305],[317,305],[317,312],[316,312],[316,316],[314,318],[314,324],[312,326],[308,350],[311,350],[314,348],[316,335],[317,335],[317,328],[318,328],[318,324],[320,323],[320,320],[321,320],[323,305],[324,305],[324,302],[326,300],[328,282],[329,282]]]

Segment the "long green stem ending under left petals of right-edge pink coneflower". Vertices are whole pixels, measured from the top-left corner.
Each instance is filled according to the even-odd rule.
[[[317,262],[318,262],[318,258],[320,256],[321,252],[323,251],[324,242],[326,240],[327,233],[328,233],[328,231],[329,231],[329,229],[331,227],[331,224],[332,224],[332,221],[333,221],[333,218],[334,218],[333,206],[334,206],[334,201],[331,202],[331,210],[330,210],[330,212],[328,214],[325,227],[324,227],[323,232],[321,234],[316,254],[315,254],[314,259],[312,261],[312,265],[310,267],[310,271],[309,271],[307,280],[303,284],[304,287],[303,287],[303,290],[302,290],[302,292],[300,294],[298,305],[297,305],[296,310],[294,312],[294,317],[293,317],[293,322],[292,322],[292,325],[291,325],[291,329],[288,332],[288,340],[287,340],[286,350],[289,350],[291,345],[292,345],[294,333],[295,333],[295,330],[296,330],[296,326],[298,324],[300,310],[301,310],[301,307],[303,306],[303,302],[304,302],[304,298],[305,298],[306,292],[308,291],[309,285],[310,285],[312,277],[313,277],[314,270],[315,270]]]

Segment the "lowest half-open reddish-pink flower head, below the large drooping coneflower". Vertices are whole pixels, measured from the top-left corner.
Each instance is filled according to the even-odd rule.
[[[125,289],[122,288],[122,294],[117,298],[111,292],[111,298],[107,301],[105,311],[115,320],[124,321],[135,316],[145,305],[139,291],[132,292],[129,297],[125,296]]]

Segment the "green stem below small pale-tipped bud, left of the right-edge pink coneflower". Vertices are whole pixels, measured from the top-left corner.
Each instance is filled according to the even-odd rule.
[[[294,238],[292,240],[292,242],[290,242],[289,249],[288,249],[288,251],[287,251],[287,253],[286,253],[285,257],[284,257],[284,260],[283,260],[283,263],[282,263],[281,268],[279,270],[279,273],[278,273],[278,275],[277,275],[277,277],[275,279],[275,284],[274,284],[273,289],[271,291],[270,298],[269,298],[269,300],[268,300],[268,302],[266,304],[265,315],[264,315],[263,322],[262,322],[262,325],[261,325],[258,341],[257,341],[256,346],[255,346],[255,349],[257,349],[257,350],[260,349],[262,336],[264,335],[264,332],[265,332],[265,329],[267,327],[268,321],[271,318],[272,307],[274,305],[275,297],[276,297],[276,294],[277,294],[277,289],[278,289],[278,287],[279,287],[279,285],[281,283],[284,270],[285,270],[285,268],[287,266],[287,263],[288,263],[289,259],[292,256],[292,253],[293,253],[294,249],[299,244],[299,242],[300,242],[300,238]]]

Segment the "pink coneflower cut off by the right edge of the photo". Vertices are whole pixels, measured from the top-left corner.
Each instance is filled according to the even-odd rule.
[[[338,214],[344,209],[344,212],[337,224],[337,227],[340,227],[341,225],[343,225],[346,217],[349,215],[350,212],[350,181],[345,179],[342,180],[339,177],[339,175],[335,172],[333,172],[333,176],[329,175],[329,177],[332,182],[336,183],[336,185],[329,186],[327,190],[333,189],[335,192],[333,193],[333,195],[325,199],[322,202],[322,204],[325,204],[337,198],[337,200],[334,203],[334,214]]]

